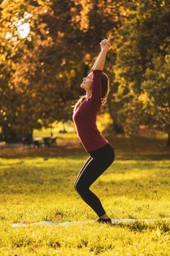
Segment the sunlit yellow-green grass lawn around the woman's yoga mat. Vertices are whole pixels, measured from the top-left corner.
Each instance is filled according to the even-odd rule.
[[[11,226],[97,218],[74,190],[88,154],[79,143],[72,149],[69,140],[70,146],[64,146],[60,136],[56,148],[1,149],[0,255],[170,255],[170,154],[165,139],[115,138],[115,162],[90,187],[112,219],[156,221],[112,227]]]

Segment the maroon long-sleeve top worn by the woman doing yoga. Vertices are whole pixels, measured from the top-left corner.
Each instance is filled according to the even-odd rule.
[[[91,94],[78,106],[72,115],[74,127],[85,151],[93,151],[109,143],[96,126],[96,117],[101,107],[102,70],[93,70]]]

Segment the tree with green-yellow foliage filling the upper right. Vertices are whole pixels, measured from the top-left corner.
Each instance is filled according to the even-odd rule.
[[[169,133],[169,64],[164,61],[165,57],[169,59],[169,4],[152,0],[123,3],[125,17],[115,31],[118,86],[112,102],[127,135],[137,133],[139,124],[158,124],[158,129]],[[164,93],[158,94],[158,88]],[[146,95],[150,110],[148,101],[147,106],[144,101]]]

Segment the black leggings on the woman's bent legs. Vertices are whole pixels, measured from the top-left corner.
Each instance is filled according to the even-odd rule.
[[[93,151],[88,152],[90,157],[86,159],[80,173],[74,182],[74,189],[78,192],[82,200],[96,212],[98,217],[106,213],[99,198],[89,189],[96,179],[107,170],[115,159],[115,151],[112,146],[107,143]]]

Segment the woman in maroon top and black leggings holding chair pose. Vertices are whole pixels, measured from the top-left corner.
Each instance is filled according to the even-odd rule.
[[[89,154],[74,182],[74,189],[82,197],[82,200],[96,212],[99,217],[96,222],[111,223],[112,220],[104,211],[101,201],[89,189],[90,185],[104,173],[104,170],[107,170],[107,167],[115,159],[114,149],[96,127],[98,110],[101,105],[105,104],[109,94],[109,79],[103,72],[107,50],[110,46],[109,39],[110,36],[101,41],[101,52],[90,70],[92,72],[83,78],[80,86],[86,90],[87,94],[82,96],[73,106],[72,119],[80,142]]]

